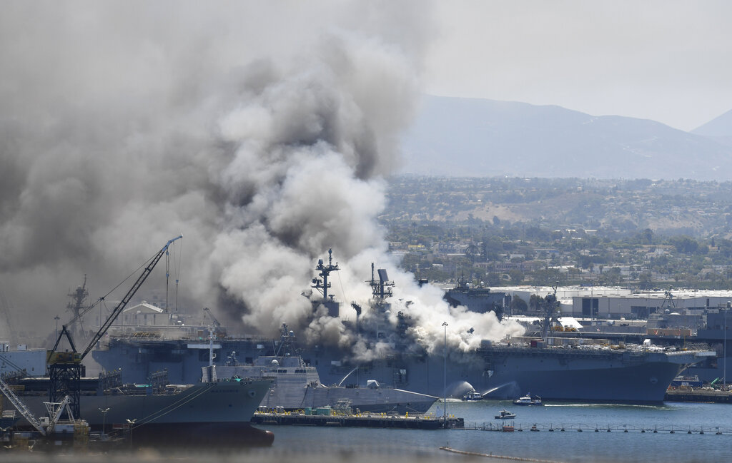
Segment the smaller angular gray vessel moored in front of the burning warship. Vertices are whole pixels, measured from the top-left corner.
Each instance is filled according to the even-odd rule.
[[[295,335],[283,324],[277,355],[260,356],[253,364],[209,365],[203,367],[203,381],[224,378],[248,377],[272,380],[261,407],[283,407],[285,410],[302,410],[306,407],[350,407],[363,413],[425,413],[438,397],[417,392],[381,386],[376,380],[368,380],[365,387],[325,386],[315,367],[305,364],[294,352]],[[234,356],[232,356],[234,357]]]

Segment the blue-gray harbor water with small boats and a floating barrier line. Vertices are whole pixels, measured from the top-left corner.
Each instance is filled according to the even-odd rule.
[[[494,419],[504,408],[516,413],[516,418]],[[442,416],[442,402],[433,405],[430,413]],[[540,407],[520,407],[510,401],[483,400],[448,401],[447,413],[464,418],[468,429],[423,431],[271,426],[267,429],[275,432],[275,443],[272,448],[261,451],[265,454],[271,452],[282,459],[292,457],[293,449],[310,456],[388,455],[406,459],[418,456],[425,461],[465,458],[440,450],[440,447],[449,447],[477,454],[553,462],[732,461],[731,405],[547,402]],[[513,424],[515,429],[523,429],[523,432],[482,430],[490,429],[491,425],[495,429],[502,424]],[[529,430],[534,425],[539,432]],[[561,432],[563,427],[565,431]],[[594,432],[596,428],[598,431]],[[553,429],[553,432],[548,429]],[[578,432],[578,429],[583,429],[583,432]]]

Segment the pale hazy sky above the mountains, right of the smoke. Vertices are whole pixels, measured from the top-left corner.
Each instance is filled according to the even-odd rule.
[[[732,110],[730,1],[438,1],[425,90],[691,130]]]

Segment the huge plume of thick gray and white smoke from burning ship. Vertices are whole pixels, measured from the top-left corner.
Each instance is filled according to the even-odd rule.
[[[425,326],[416,339],[433,343],[444,319],[463,347],[469,328],[501,337],[397,274],[376,222],[417,101],[428,6],[214,5],[4,4],[0,284],[23,328],[51,331],[83,274],[100,296],[182,233],[171,280],[190,311],[223,315],[228,301],[250,329],[286,321],[351,343],[300,294],[333,248],[344,302],[368,299],[376,261],[414,301],[403,310]],[[162,274],[146,288],[164,288]]]

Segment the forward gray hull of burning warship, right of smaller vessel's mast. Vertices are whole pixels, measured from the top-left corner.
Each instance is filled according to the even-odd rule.
[[[323,364],[329,357],[324,352],[314,359]],[[446,366],[438,355],[401,356],[371,362],[362,368],[362,374],[392,378],[399,387],[450,397],[463,397],[474,389],[485,398],[496,399],[515,399],[531,391],[563,401],[662,402],[673,378],[688,364],[701,360],[697,353],[683,352],[518,347],[482,348],[456,357],[448,355]],[[330,364],[318,372],[328,381],[342,379],[347,370],[348,365]],[[352,375],[354,372],[349,378]]]

